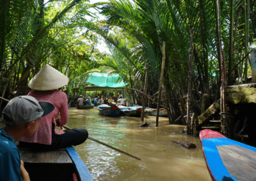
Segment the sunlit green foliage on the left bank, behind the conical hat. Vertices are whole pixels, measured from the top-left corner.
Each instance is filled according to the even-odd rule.
[[[94,15],[88,2],[3,0],[0,4],[3,91],[3,85],[8,85],[6,89],[16,96],[27,94],[29,80],[48,63],[70,78],[71,92],[86,71],[97,67],[97,37],[87,20]]]

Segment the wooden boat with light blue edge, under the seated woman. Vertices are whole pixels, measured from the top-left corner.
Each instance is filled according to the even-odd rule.
[[[31,181],[93,180],[74,147],[47,152],[38,152],[19,146],[18,148]]]

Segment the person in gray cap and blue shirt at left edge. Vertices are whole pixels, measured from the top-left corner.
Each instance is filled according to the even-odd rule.
[[[38,102],[32,96],[13,98],[4,108],[5,127],[0,128],[0,180],[30,180],[15,146],[20,136],[35,133],[41,117],[54,110],[54,105]]]

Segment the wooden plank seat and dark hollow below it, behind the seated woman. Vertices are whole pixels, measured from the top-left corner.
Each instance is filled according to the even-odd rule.
[[[18,148],[31,181],[72,180],[75,167],[64,148],[44,152],[21,148],[19,145]]]

